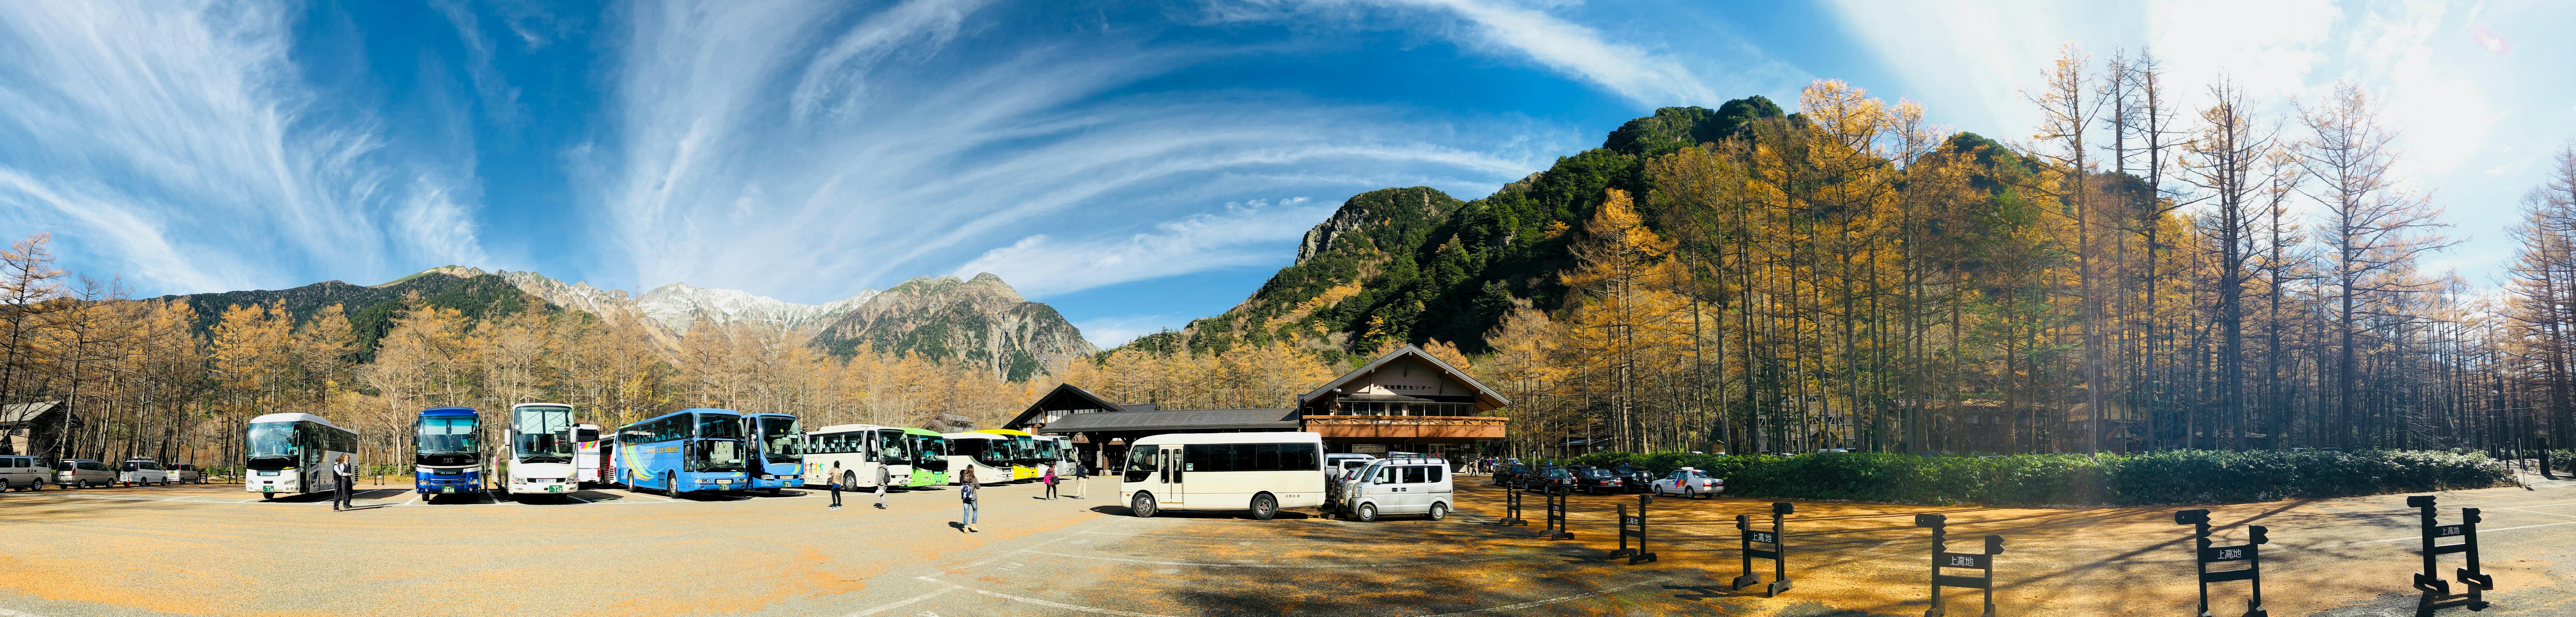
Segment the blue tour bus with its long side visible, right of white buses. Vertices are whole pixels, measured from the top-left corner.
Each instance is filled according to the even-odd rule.
[[[618,481],[626,491],[662,488],[742,491],[742,414],[732,409],[680,409],[618,427]]]

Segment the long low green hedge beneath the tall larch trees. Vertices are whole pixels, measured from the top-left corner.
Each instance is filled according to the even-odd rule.
[[[2512,483],[2483,452],[2226,452],[1922,458],[1883,452],[1690,455],[1592,452],[1571,465],[1700,468],[1728,494],[1888,504],[2161,506],[2452,491]]]

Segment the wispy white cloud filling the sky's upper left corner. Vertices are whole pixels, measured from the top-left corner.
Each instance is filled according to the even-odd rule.
[[[482,260],[448,198],[471,193],[471,154],[389,152],[374,116],[301,80],[291,21],[260,3],[0,5],[0,221],[147,291]]]

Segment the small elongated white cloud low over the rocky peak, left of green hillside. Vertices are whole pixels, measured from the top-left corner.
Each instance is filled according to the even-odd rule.
[[[989,249],[958,267],[958,275],[994,273],[1030,296],[1046,298],[1128,280],[1188,275],[1218,267],[1278,265],[1280,249],[1332,213],[1332,203],[1306,198],[1239,201],[1221,213],[1193,213],[1128,237],[1061,239],[1025,237]]]

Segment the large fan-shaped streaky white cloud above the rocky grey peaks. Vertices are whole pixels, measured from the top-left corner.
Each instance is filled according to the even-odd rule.
[[[1316,188],[1213,180],[1376,180],[1329,188],[1358,193],[1466,177],[1489,190],[1571,139],[1528,121],[1512,129],[1543,139],[1458,136],[1396,108],[1278,93],[1123,93],[1234,49],[989,31],[976,8],[634,8],[616,131],[582,154],[631,278],[814,301],[956,262],[1023,273],[992,247],[1064,249],[1059,229],[1190,221],[1211,193]],[[1066,280],[1157,265],[1118,267],[1136,273]]]

